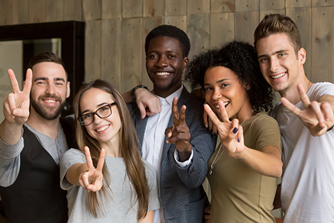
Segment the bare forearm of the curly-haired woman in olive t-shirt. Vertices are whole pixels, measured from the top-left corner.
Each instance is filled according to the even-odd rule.
[[[238,155],[237,158],[248,167],[254,169],[258,174],[279,178],[282,176],[283,167],[279,155],[280,151],[274,146],[270,146],[270,148],[264,146],[262,151],[245,146],[244,153]]]

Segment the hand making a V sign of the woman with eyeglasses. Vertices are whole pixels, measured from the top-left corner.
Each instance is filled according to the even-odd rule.
[[[101,149],[96,169],[93,165],[92,157],[90,157],[88,146],[85,146],[85,155],[88,171],[84,171],[79,175],[79,184],[88,191],[97,192],[98,190],[101,190],[103,185],[102,168],[104,164],[105,151],[104,148]]]

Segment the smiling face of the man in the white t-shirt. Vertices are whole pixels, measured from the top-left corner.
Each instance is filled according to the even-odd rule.
[[[299,49],[296,55],[285,33],[261,38],[257,41],[256,51],[264,79],[280,95],[286,95],[290,89],[295,89],[297,84],[301,84],[305,77],[305,49]]]

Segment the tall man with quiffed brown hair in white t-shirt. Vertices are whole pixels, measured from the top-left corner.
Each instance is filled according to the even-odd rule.
[[[334,84],[311,83],[296,24],[266,15],[254,33],[264,79],[283,97],[273,107],[283,140],[284,222],[334,221]]]

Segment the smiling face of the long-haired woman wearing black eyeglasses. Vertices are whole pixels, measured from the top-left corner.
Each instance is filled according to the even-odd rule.
[[[100,107],[104,107],[115,102],[113,96],[101,89],[89,89],[81,95],[79,102],[80,113],[86,114],[95,112]],[[94,116],[94,121],[85,128],[88,134],[96,139],[102,148],[109,148],[109,144],[114,146],[119,145],[120,128],[122,123],[120,121],[120,114],[118,113],[117,105],[111,106],[112,114],[106,118]]]

